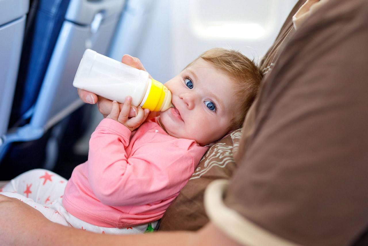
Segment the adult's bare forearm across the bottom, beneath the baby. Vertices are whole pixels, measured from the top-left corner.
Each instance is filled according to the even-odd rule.
[[[213,224],[208,224],[198,232],[155,232],[139,235],[108,235],[87,232],[53,223],[24,202],[4,195],[0,195],[0,228],[0,245],[4,246],[238,246],[233,239],[224,235]]]

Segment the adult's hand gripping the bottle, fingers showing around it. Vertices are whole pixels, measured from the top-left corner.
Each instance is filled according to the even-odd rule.
[[[130,55],[124,55],[123,58],[121,58],[121,62],[129,66],[135,67],[137,69],[146,71],[141,61],[138,58],[132,57]],[[151,75],[149,77],[152,79]],[[104,118],[106,118],[106,116],[110,114],[111,108],[112,108],[111,100],[106,99],[104,97],[97,96],[95,93],[92,93],[86,90],[78,89],[77,91],[78,91],[79,97],[84,103],[89,103],[89,104],[97,103],[97,107]],[[123,104],[120,104],[120,110],[122,107],[123,107]],[[134,111],[133,109],[130,110],[129,117],[135,116],[135,112],[137,112],[137,109],[135,108],[135,110],[136,111]]]

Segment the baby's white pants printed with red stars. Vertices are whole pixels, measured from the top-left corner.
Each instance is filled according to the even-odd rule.
[[[61,225],[97,233],[135,234],[143,233],[148,224],[129,228],[109,228],[89,224],[69,214],[62,204],[64,189],[68,180],[52,171],[34,169],[20,174],[6,186],[0,194],[14,197],[40,211],[47,219]],[[157,223],[151,223],[155,228]]]

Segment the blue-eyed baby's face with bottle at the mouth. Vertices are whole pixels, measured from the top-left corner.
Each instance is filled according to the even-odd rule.
[[[194,139],[204,146],[231,130],[237,100],[229,76],[198,59],[165,83],[175,108],[160,112],[166,132],[176,138]]]

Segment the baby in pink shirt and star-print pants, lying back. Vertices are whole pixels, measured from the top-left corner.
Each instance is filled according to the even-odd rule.
[[[149,111],[141,107],[128,117],[131,97],[121,110],[114,101],[91,135],[88,160],[68,181],[36,169],[13,179],[2,194],[63,225],[145,232],[155,227],[209,146],[241,127],[261,78],[241,53],[210,49],[165,83],[174,107],[157,117],[146,120]]]

